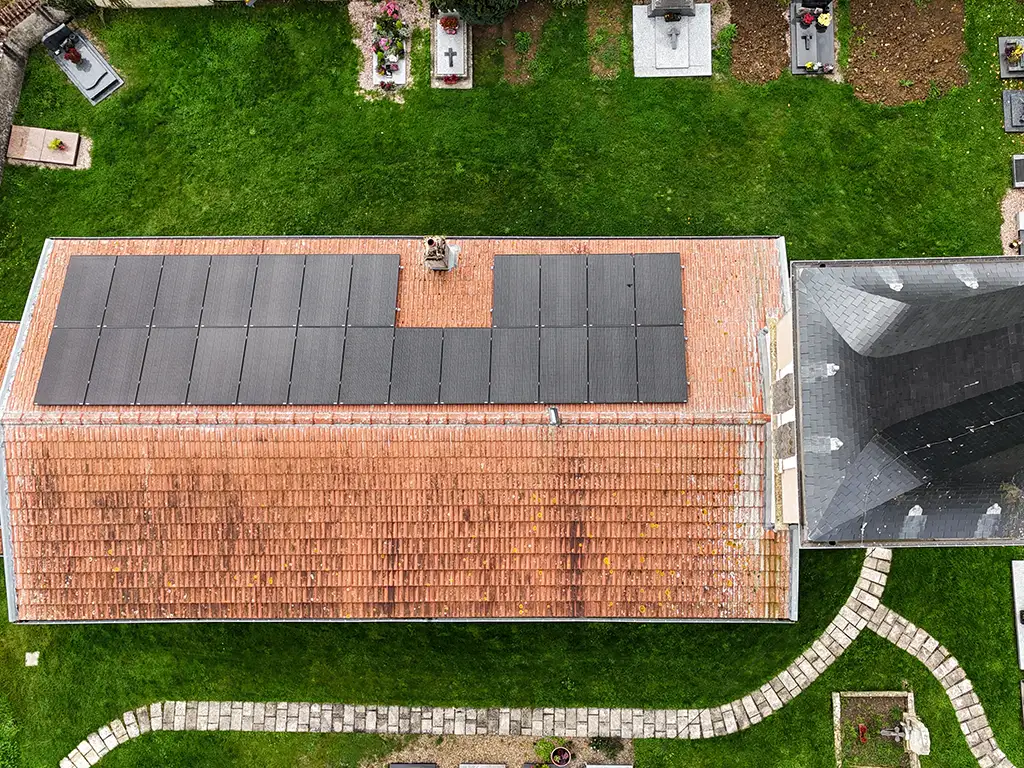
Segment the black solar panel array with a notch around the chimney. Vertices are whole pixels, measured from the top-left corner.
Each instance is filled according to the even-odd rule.
[[[492,328],[395,328],[398,256],[74,256],[38,404],[683,402],[678,254],[499,256]]]

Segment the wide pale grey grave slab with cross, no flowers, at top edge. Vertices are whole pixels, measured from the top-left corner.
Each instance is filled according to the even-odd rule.
[[[675,47],[673,47],[675,42]],[[638,78],[711,77],[711,4],[678,22],[648,16],[633,6],[633,74]]]

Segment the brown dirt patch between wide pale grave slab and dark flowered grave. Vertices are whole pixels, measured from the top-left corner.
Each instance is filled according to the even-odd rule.
[[[779,0],[730,0],[736,39],[732,74],[746,83],[767,83],[790,68],[788,6]]]

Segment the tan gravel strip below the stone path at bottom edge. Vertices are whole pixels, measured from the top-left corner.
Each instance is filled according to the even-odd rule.
[[[607,741],[608,739],[603,739]],[[388,755],[389,763],[436,763],[438,768],[459,768],[462,763],[504,764],[518,768],[523,763],[543,763],[541,753],[563,744],[572,753],[569,768],[585,768],[589,763],[633,764],[633,742],[622,740],[622,751],[611,755],[590,745],[586,738],[546,738],[530,736],[416,736]],[[376,763],[362,768],[378,768]]]

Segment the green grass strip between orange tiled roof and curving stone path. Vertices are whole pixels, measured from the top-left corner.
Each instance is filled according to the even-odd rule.
[[[3,625],[0,690],[32,768],[161,699],[703,707],[784,668],[839,609],[860,559],[803,558],[797,625]],[[38,668],[23,666],[27,650],[42,651]]]

